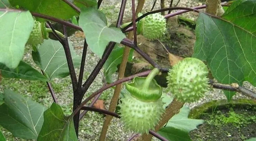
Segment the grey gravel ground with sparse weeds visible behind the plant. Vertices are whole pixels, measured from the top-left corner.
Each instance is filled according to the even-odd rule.
[[[174,4],[177,2],[177,0],[174,0]],[[146,0],[145,3],[145,10],[150,10],[151,6],[153,4],[153,0]],[[108,18],[108,24],[115,22],[114,20],[111,19],[117,19],[118,16],[118,8],[121,5],[121,0],[103,0],[102,7],[100,10],[102,10],[105,14],[106,17]],[[166,5],[167,1],[166,1]],[[190,0],[181,0],[178,6],[183,6],[183,7],[194,7],[202,5],[201,2],[195,2],[195,1],[190,1]],[[131,2],[128,1],[126,7],[131,7]],[[157,10],[160,7],[159,0],[156,4],[156,7],[154,10]],[[130,17],[130,9],[126,9],[125,11],[124,18]],[[193,13],[186,13],[183,14],[183,16],[186,16],[190,19],[195,20],[196,16]],[[78,38],[75,37],[74,35],[69,37],[70,41],[72,42],[74,49],[78,55],[81,55],[82,50],[83,50],[83,44],[84,44],[84,39],[83,38]],[[27,62],[30,62],[31,65],[35,66],[35,64],[32,62],[32,56],[31,54],[27,51],[24,60]],[[92,53],[90,49],[87,50],[87,56],[86,56],[86,63],[85,63],[85,72],[84,72],[84,81],[88,78],[90,73],[93,71],[93,68],[96,66],[97,62],[99,61],[99,58]],[[79,69],[75,70],[77,75],[79,74]],[[115,78],[117,78],[117,74],[114,75]],[[92,83],[91,87],[87,91],[86,95],[90,95],[92,92],[95,92],[97,89],[102,87],[103,85],[103,70],[100,71],[99,75],[96,77],[95,81]],[[29,83],[29,81],[19,81],[19,80],[14,80],[12,79],[11,81],[15,81],[15,84],[22,87],[22,86],[27,86],[26,84]],[[56,85],[61,85],[60,91],[56,92],[56,97],[58,99],[59,104],[62,106],[63,111],[65,114],[71,114],[72,110],[72,85],[70,81],[70,77],[66,77],[64,79],[54,79],[53,81],[54,84]],[[250,88],[251,90],[256,91],[255,87],[252,87],[248,83],[244,83],[246,87]],[[5,86],[10,86],[9,84],[5,85],[0,85],[0,92],[2,92],[3,88]],[[27,97],[32,98],[33,100],[36,100],[37,102],[40,102],[44,104],[45,106],[49,107],[53,100],[51,99],[50,93],[48,92],[47,95],[45,95],[43,98],[33,98],[33,93],[27,90],[19,90],[20,93],[25,93],[24,95]],[[105,99],[105,108],[108,109],[109,103],[110,103],[110,98],[112,96],[112,93],[114,90],[109,89],[103,92],[102,96],[100,97],[101,99]],[[163,92],[166,92],[166,89],[163,89]],[[167,94],[170,94],[166,92]],[[234,98],[241,98],[244,97],[241,94],[237,94]],[[86,98],[86,97],[85,97]],[[84,98],[84,99],[85,99]],[[189,106],[190,108],[193,108],[196,105],[202,104],[204,102],[208,102],[213,99],[225,99],[225,96],[221,90],[218,89],[213,89],[209,93],[206,94],[205,97],[201,98],[198,102],[196,103],[190,103],[190,104],[185,104]],[[83,120],[80,122],[80,127],[79,127],[79,141],[97,141],[100,130],[102,129],[102,125],[104,122],[104,117],[101,114],[95,113],[95,112],[88,112],[86,116],[84,117]],[[6,130],[3,130],[3,133],[7,137],[9,141],[18,141],[19,139],[14,138],[11,136],[11,133],[9,133]],[[120,122],[118,118],[113,118],[107,133],[106,141],[126,141],[131,135],[133,134],[132,131],[128,131],[123,128],[123,124]],[[156,140],[154,138],[154,140]],[[20,141],[20,140],[19,140]]]

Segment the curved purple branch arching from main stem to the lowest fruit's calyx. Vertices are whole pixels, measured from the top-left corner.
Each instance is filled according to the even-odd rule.
[[[148,71],[145,71],[145,72],[141,72],[141,73],[138,73],[138,74],[135,74],[135,75],[131,75],[131,76],[128,76],[126,78],[123,78],[123,79],[119,79],[115,82],[112,82],[108,85],[106,85],[105,87],[102,87],[100,88],[99,90],[97,90],[96,92],[94,92],[93,94],[91,94],[89,97],[87,97],[79,106],[77,109],[75,109],[74,111],[74,115],[77,114],[77,112],[80,110],[81,107],[83,107],[87,102],[89,102],[93,97],[95,97],[97,94],[105,91],[106,89],[108,88],[111,88],[113,86],[116,86],[118,84],[121,84],[123,82],[126,82],[126,81],[129,81],[129,80],[132,80],[135,76],[139,76],[139,77],[143,77],[143,76],[147,76],[149,73],[151,72],[151,70],[148,70]]]

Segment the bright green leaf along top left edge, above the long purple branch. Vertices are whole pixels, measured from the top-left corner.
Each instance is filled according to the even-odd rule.
[[[63,0],[9,0],[12,6],[19,5],[31,12],[36,12],[54,18],[68,20],[78,13]],[[37,18],[44,22],[45,19]]]

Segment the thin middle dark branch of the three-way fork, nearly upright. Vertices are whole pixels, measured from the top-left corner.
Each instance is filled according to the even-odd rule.
[[[83,54],[82,54],[81,65],[80,65],[80,72],[79,72],[79,77],[78,77],[78,85],[77,85],[78,89],[80,89],[82,87],[87,47],[88,47],[88,45],[86,43],[86,39],[84,39],[84,48],[83,48]]]

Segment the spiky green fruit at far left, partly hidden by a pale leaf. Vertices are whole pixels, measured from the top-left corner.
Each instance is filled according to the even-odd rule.
[[[44,36],[42,33],[41,23],[35,20],[33,30],[30,33],[27,44],[36,47],[38,44],[42,44],[43,41],[44,41]]]

